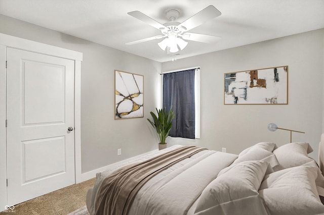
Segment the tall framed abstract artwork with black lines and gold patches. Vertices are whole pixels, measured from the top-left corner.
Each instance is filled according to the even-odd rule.
[[[144,117],[144,76],[115,70],[115,120]]]

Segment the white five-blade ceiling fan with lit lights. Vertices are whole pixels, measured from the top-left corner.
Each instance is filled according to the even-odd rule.
[[[174,53],[179,51],[178,47],[180,47],[181,50],[186,47],[188,42],[185,40],[192,40],[198,42],[212,42],[220,38],[218,36],[188,32],[189,30],[201,24],[204,24],[205,22],[212,20],[222,14],[219,10],[217,10],[212,5],[201,10],[200,12],[196,13],[195,15],[188,18],[182,23],[175,22],[175,20],[179,16],[179,11],[169,10],[167,12],[167,18],[170,20],[170,22],[167,22],[164,25],[153,20],[152,18],[146,16],[145,14],[139,11],[133,11],[127,14],[153,26],[154,28],[159,29],[163,34],[163,35],[157,35],[145,39],[136,40],[133,42],[128,42],[126,43],[127,45],[137,44],[137,43],[146,42],[153,39],[161,39],[166,37],[164,40],[158,43],[158,46],[162,50],[166,50],[166,48],[169,47],[170,48],[169,51]]]

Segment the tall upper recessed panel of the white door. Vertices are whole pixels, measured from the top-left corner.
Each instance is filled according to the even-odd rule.
[[[22,63],[24,124],[63,123],[65,67],[27,60]]]

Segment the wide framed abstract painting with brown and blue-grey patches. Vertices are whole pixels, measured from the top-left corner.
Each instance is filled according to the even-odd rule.
[[[288,66],[225,73],[224,104],[288,104]]]

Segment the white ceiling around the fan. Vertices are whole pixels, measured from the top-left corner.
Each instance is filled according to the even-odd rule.
[[[158,29],[128,15],[140,11],[159,23],[176,9],[183,22],[209,5],[222,15],[190,32],[222,37],[215,43],[189,41],[178,59],[324,28],[324,0],[0,0],[0,14],[97,42],[158,62],[170,61],[155,39]]]

